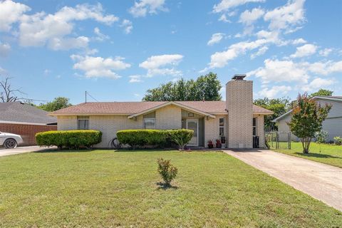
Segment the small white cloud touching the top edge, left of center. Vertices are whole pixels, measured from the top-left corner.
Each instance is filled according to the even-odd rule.
[[[164,4],[165,0],[140,0],[135,1],[134,6],[129,11],[134,17],[157,14],[157,11],[167,11]]]

